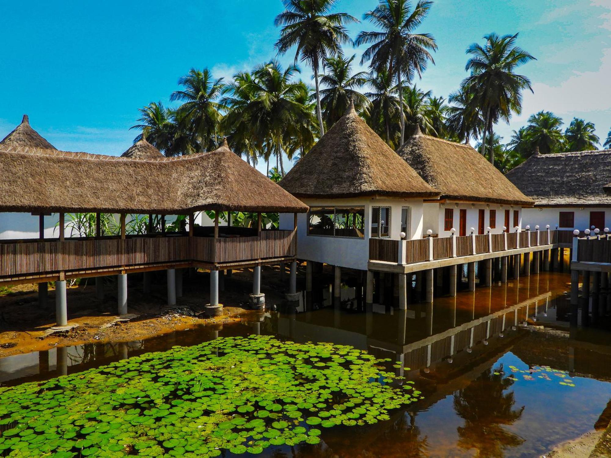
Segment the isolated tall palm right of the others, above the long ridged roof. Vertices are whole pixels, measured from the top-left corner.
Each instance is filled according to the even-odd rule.
[[[470,59],[466,71],[471,75],[464,79],[463,89],[472,93],[472,103],[484,113],[482,144],[486,135],[492,136],[492,126],[500,119],[509,122],[511,114],[522,112],[522,91],[532,92],[530,79],[514,73],[517,67],[535,59],[524,49],[515,46],[518,34],[499,37],[495,33],[485,35],[484,46],[473,43],[467,48]],[[490,154],[494,164],[494,154]]]

